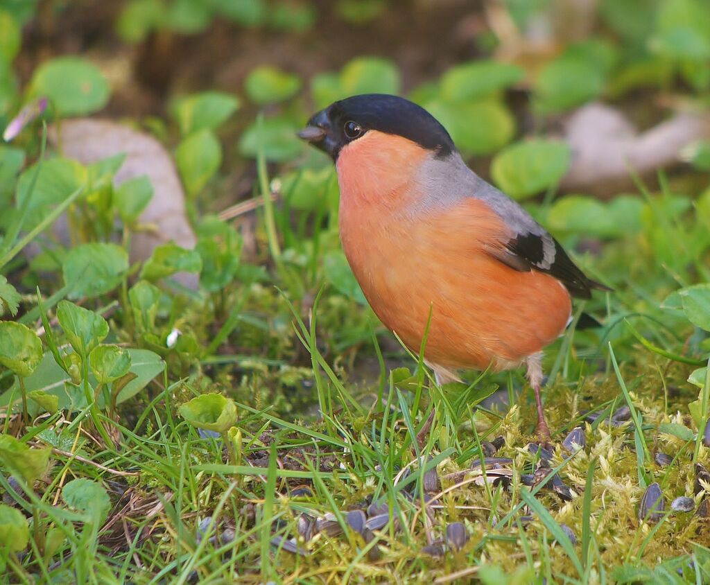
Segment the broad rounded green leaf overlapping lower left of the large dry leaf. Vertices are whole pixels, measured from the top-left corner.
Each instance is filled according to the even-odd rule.
[[[96,297],[113,290],[129,269],[129,255],[116,244],[82,244],[72,248],[62,263],[69,297]]]

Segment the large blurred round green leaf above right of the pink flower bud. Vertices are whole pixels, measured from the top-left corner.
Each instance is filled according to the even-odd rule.
[[[99,69],[78,57],[58,57],[40,65],[32,77],[33,96],[48,97],[60,116],[81,116],[109,101],[109,84]]]

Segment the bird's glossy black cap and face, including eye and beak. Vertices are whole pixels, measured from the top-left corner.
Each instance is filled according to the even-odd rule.
[[[362,94],[334,102],[314,114],[299,136],[335,160],[347,143],[368,130],[403,136],[438,156],[456,150],[444,126],[422,106],[388,94]]]

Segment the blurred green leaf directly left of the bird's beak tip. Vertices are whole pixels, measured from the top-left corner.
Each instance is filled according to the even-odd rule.
[[[241,135],[239,152],[256,158],[259,148],[263,148],[266,160],[290,160],[303,150],[302,142],[296,137],[299,129],[290,118],[265,118],[261,125],[257,120]]]

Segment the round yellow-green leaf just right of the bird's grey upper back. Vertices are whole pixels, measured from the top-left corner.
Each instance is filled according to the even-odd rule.
[[[496,155],[491,175],[515,199],[524,199],[557,185],[567,173],[572,153],[561,141],[541,138],[518,142]]]

